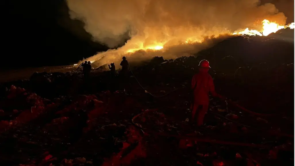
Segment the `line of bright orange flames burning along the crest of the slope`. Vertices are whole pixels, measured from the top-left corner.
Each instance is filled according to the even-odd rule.
[[[282,30],[282,29],[284,30],[286,28],[289,28],[292,31],[294,31],[294,23],[291,23],[291,24],[288,24],[288,25],[279,25],[279,24],[277,24],[275,22],[270,22],[269,20],[264,19],[262,21],[262,25],[263,25],[262,30],[260,30],[260,31],[258,31],[258,30],[249,30],[248,28],[246,28],[245,30],[236,31],[234,33],[228,33],[227,35],[228,36],[231,36],[231,35],[245,35],[245,37],[247,38],[247,36],[255,36],[255,35],[257,35],[257,36],[268,36],[270,34],[276,33],[279,30]],[[271,35],[271,36],[273,36],[273,35]],[[213,36],[213,38],[218,38],[218,37],[219,36]],[[278,36],[274,36],[274,38],[282,40],[282,37],[279,38]],[[189,39],[184,40],[183,42],[178,43],[178,45],[187,45],[187,47],[189,47],[191,45],[194,46],[196,44],[201,44],[201,43],[207,43],[208,44],[208,42],[206,41],[208,39],[210,40],[211,38],[203,38],[202,40],[199,40],[199,39],[195,40],[193,38],[189,38]],[[258,40],[263,40],[263,39],[258,38]],[[285,40],[288,40],[288,39],[285,39]],[[173,48],[174,46],[173,45],[166,45],[165,42],[164,42],[164,43],[161,43],[160,45],[155,44],[154,46],[148,46],[148,47],[143,47],[143,45],[142,45],[142,46],[140,46],[140,48],[132,48],[132,49],[129,49],[129,50],[125,51],[125,52],[124,51],[122,52],[121,51],[122,48],[119,48],[117,50],[109,50],[109,51],[107,51],[105,53],[99,53],[99,54],[97,54],[97,55],[95,55],[93,57],[88,58],[88,60],[91,60],[91,63],[94,63],[94,65],[98,65],[98,67],[99,67],[99,66],[103,65],[103,63],[108,64],[108,63],[115,62],[116,64],[118,64],[119,63],[119,57],[122,57],[124,55],[127,56],[127,57],[130,57],[131,61],[133,59],[135,59],[135,58],[137,58],[137,60],[135,60],[135,61],[145,61],[146,59],[152,58],[151,56],[153,56],[155,54],[163,55],[165,58],[169,58],[169,57],[171,57],[171,54],[174,54],[173,52],[169,52],[169,49]],[[168,50],[165,49],[166,47],[168,48]],[[196,47],[196,46],[194,46],[194,47]],[[141,51],[147,52],[148,55],[145,54],[144,56],[141,56],[140,55]],[[200,50],[198,49],[195,52],[197,52],[197,51],[200,51]],[[176,57],[181,55],[181,54],[183,55],[183,54],[187,54],[187,53],[185,51],[184,52],[181,51],[178,55],[176,55]],[[189,55],[191,55],[191,53],[189,53]],[[96,57],[99,57],[99,58],[96,58]],[[75,64],[75,65],[77,65],[77,64]]]

